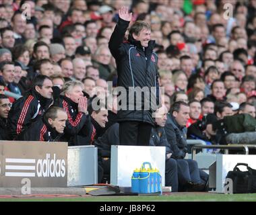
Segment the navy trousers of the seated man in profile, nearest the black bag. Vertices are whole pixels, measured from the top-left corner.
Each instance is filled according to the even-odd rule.
[[[177,159],[177,167],[179,184],[181,186],[190,181],[193,183],[201,183],[197,161],[191,159]]]

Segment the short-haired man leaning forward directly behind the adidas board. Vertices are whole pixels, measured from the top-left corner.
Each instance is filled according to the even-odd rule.
[[[49,107],[44,116],[21,132],[16,140],[58,142],[63,135],[67,113],[61,107]]]

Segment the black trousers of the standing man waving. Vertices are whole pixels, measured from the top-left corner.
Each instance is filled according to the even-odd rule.
[[[148,146],[152,124],[147,122],[119,122],[119,140],[121,145]]]

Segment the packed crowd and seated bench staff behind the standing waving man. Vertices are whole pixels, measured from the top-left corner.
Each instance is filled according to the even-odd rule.
[[[132,13],[129,26],[148,23],[156,40],[162,112],[150,145],[168,144],[166,183],[174,191],[198,191],[199,176],[206,176],[199,171],[193,184],[180,177],[179,168],[197,165],[179,161],[187,153],[181,143],[226,144],[215,122],[234,114],[255,118],[255,0],[0,0],[0,139],[95,144],[99,181],[109,175],[119,124],[108,42],[121,7]],[[104,102],[110,95],[113,102]],[[178,173],[168,172],[174,165]]]

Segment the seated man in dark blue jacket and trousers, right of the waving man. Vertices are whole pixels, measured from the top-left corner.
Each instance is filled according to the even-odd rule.
[[[187,129],[189,105],[184,101],[175,102],[170,108],[164,130],[172,150],[173,159],[177,160],[180,190],[203,191],[208,175],[198,169],[197,162],[185,159],[187,154]]]

